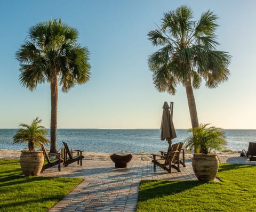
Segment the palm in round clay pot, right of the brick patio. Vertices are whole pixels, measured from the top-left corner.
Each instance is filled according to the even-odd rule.
[[[209,127],[209,124],[201,124],[188,131],[191,135],[186,139],[187,148],[193,149],[195,153],[192,158],[192,167],[198,180],[214,180],[218,168],[219,160],[216,153],[211,151],[221,151],[225,148],[225,132],[218,127]],[[199,151],[199,153],[197,153]]]

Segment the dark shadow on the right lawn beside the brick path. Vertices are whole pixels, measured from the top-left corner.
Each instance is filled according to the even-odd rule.
[[[147,186],[147,182],[152,181],[141,181],[139,201],[147,201],[149,199],[181,193],[193,187],[209,183],[209,181],[153,181],[153,184],[150,183],[149,186]]]

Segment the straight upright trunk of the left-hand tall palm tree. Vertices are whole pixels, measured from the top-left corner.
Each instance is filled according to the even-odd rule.
[[[50,153],[57,152],[57,113],[58,113],[58,75],[51,80],[51,149]]]

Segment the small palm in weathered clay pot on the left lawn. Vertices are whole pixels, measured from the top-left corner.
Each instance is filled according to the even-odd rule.
[[[49,143],[45,137],[47,131],[45,127],[40,126],[41,119],[33,119],[31,125],[20,124],[18,132],[13,136],[13,143],[28,143],[29,150],[21,151],[20,166],[25,176],[37,176],[44,164],[44,155],[42,151],[36,151],[43,143]]]

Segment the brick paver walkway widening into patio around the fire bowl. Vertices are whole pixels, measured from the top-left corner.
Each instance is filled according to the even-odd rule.
[[[74,162],[68,167],[46,169],[41,176],[79,177],[84,181],[64,199],[53,206],[54,211],[135,211],[137,207],[141,180],[196,180],[191,162],[186,167],[175,169],[172,174],[157,168],[153,172],[153,163],[149,160],[132,159],[127,168],[115,169],[109,159],[83,160],[83,166]]]

